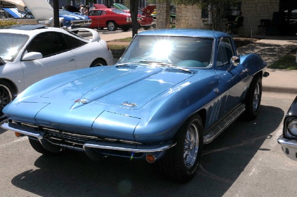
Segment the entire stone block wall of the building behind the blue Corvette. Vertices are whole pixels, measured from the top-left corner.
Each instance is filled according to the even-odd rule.
[[[242,12],[244,16],[244,30],[241,36],[250,36],[257,34],[258,25],[261,19],[270,19],[274,12],[279,11],[280,0],[243,0]],[[171,28],[169,24],[170,3],[157,2],[156,27]],[[198,4],[194,5],[176,5],[176,28],[194,28],[210,29],[207,25],[207,19],[201,18],[201,8]],[[221,22],[220,31],[225,30],[225,22]]]

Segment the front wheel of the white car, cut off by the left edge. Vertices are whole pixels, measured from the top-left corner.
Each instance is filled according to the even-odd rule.
[[[10,103],[16,95],[16,90],[5,80],[0,79],[0,118],[3,118],[2,109]]]

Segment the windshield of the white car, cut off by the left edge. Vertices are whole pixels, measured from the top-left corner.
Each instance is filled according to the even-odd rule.
[[[28,38],[23,34],[0,33],[0,57],[4,61],[13,61]]]

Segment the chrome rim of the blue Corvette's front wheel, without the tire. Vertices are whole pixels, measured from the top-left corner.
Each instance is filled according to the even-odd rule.
[[[193,122],[189,126],[185,143],[184,143],[184,162],[185,166],[189,169],[193,167],[198,154],[199,135],[198,128]]]

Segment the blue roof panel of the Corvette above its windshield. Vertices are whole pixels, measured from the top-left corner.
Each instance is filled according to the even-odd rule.
[[[202,29],[160,29],[144,31],[137,34],[137,36],[185,36],[185,37],[207,37],[215,38],[230,37],[224,32],[202,30]]]

